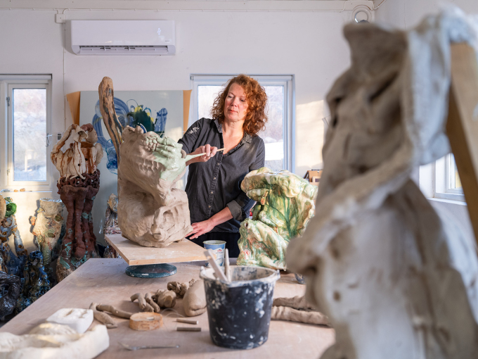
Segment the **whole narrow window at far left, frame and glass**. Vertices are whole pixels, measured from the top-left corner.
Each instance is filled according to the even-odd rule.
[[[0,189],[51,185],[51,75],[0,75]]]

